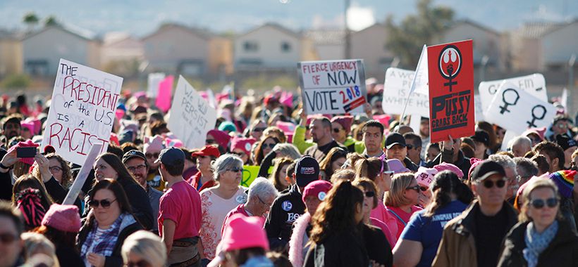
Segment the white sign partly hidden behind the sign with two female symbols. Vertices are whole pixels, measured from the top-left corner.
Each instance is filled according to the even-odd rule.
[[[481,97],[481,108],[483,108],[484,113],[488,110],[493,96],[496,94],[503,82],[515,84],[517,88],[526,91],[544,102],[548,102],[548,96],[546,95],[546,79],[544,79],[544,76],[539,73],[510,79],[481,82],[478,86],[478,91]]]

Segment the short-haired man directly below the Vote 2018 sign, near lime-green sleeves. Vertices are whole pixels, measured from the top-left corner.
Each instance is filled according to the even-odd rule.
[[[326,117],[317,117],[313,119],[311,124],[309,124],[309,129],[311,130],[311,136],[315,145],[311,148],[307,148],[304,155],[311,156],[316,159],[317,162],[321,162],[331,148],[343,148],[339,143],[333,140],[333,136],[331,136],[331,121]],[[347,148],[343,149],[347,150]]]

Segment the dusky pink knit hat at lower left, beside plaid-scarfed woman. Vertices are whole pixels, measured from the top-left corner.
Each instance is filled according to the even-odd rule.
[[[52,204],[42,219],[43,226],[68,233],[80,231],[80,216],[75,205]]]

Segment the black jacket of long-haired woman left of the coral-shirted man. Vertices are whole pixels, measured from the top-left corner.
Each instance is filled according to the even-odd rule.
[[[149,200],[149,194],[142,188],[142,186],[125,179],[118,179],[118,183],[123,186],[125,190],[126,197],[130,203],[130,207],[133,208],[133,214],[137,221],[142,224],[142,227],[146,230],[151,230],[153,226],[152,207]]]

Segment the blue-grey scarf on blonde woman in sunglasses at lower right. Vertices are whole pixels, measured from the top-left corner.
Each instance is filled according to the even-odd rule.
[[[524,259],[528,261],[528,267],[536,267],[538,264],[538,257],[544,249],[550,245],[550,242],[552,242],[556,233],[558,233],[558,221],[554,221],[542,233],[536,232],[534,223],[528,223],[526,235],[524,236],[526,248],[522,250],[524,253]]]

